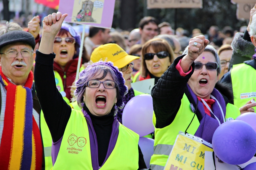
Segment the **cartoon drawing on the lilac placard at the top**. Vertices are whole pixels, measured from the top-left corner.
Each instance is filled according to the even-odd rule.
[[[73,22],[101,23],[104,0],[75,0],[73,7]],[[78,11],[79,10],[79,11]]]

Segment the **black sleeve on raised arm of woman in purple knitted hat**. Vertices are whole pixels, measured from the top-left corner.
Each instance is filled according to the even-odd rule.
[[[36,96],[44,113],[44,119],[52,135],[52,141],[57,142],[64,134],[71,107],[63,100],[56,88],[53,72],[55,54],[43,54],[36,50],[34,71]]]

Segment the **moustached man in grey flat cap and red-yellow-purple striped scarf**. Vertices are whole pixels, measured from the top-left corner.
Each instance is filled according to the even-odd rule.
[[[0,166],[35,169],[43,165],[40,105],[33,73],[35,38],[25,31],[0,36]]]

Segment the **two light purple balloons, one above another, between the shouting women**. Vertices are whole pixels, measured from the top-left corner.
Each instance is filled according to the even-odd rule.
[[[147,168],[154,153],[154,139],[144,136],[155,130],[152,122],[153,112],[151,95],[141,94],[126,103],[122,115],[123,125],[140,135],[139,146]]]

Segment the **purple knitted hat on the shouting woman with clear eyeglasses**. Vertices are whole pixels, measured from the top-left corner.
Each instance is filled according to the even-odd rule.
[[[88,72],[89,70],[91,70],[92,67],[99,66],[99,65],[108,66],[109,68],[111,68],[114,71],[114,73],[116,75],[116,78],[117,78],[117,81],[118,81],[117,84],[119,86],[118,92],[119,92],[119,95],[121,96],[121,98],[119,98],[119,99],[117,98],[116,106],[120,109],[123,108],[124,107],[123,98],[124,98],[124,95],[127,94],[127,92],[128,92],[128,87],[126,85],[124,85],[125,80],[122,76],[122,73],[118,70],[117,67],[115,67],[113,65],[112,62],[99,61],[99,62],[93,63],[92,65],[88,65],[83,71],[81,71],[79,73],[79,78],[76,81],[77,88],[76,88],[75,93],[78,93],[81,90],[81,86],[79,86],[79,85],[82,84],[81,77],[84,77],[85,73]]]

